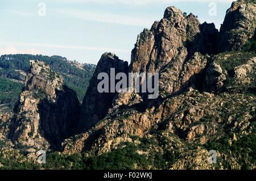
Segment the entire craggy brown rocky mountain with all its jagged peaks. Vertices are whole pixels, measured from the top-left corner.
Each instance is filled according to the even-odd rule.
[[[255,169],[255,12],[255,1],[233,2],[218,32],[167,7],[138,35],[129,66],[102,55],[81,108],[59,74],[32,62],[14,115],[1,113],[0,136],[14,149],[0,150],[3,167],[21,144],[53,150],[43,166],[16,153],[32,169]],[[98,92],[111,68],[159,73],[159,97]]]

